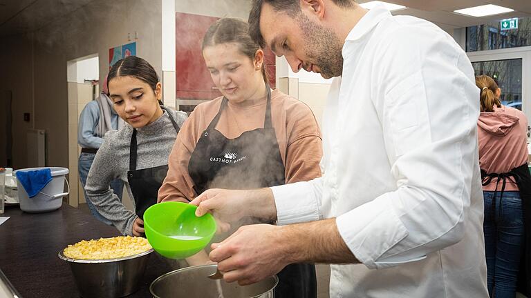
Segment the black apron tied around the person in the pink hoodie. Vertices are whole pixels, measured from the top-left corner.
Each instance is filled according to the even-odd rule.
[[[531,174],[529,172],[528,163],[524,163],[523,165],[510,170],[510,172],[502,174],[487,174],[485,170],[481,170],[481,179],[483,180],[483,185],[487,185],[487,182],[490,182],[490,179],[493,178],[499,179],[498,182],[503,181],[501,195],[503,195],[503,190],[505,190],[505,179],[512,178],[519,188],[520,199],[522,200],[525,239],[523,255],[520,260],[516,290],[525,296],[529,296],[531,294]],[[493,204],[495,205],[495,203]]]

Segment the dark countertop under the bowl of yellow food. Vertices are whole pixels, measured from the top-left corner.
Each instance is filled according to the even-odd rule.
[[[57,253],[81,240],[120,235],[113,226],[66,203],[46,213],[10,206],[0,216],[10,217],[0,225],[0,269],[23,298],[80,297],[70,266]],[[173,270],[171,262],[161,258],[151,254],[140,290],[127,297],[151,297],[151,281]]]

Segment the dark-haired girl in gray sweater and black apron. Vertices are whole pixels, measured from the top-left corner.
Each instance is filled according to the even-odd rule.
[[[127,124],[105,134],[88,172],[86,195],[122,235],[140,236],[144,233],[142,217],[157,202],[169,153],[187,115],[159,105],[162,85],[153,67],[139,57],[116,62],[107,86],[116,112]],[[115,179],[124,181],[134,199],[134,212],[109,188]]]

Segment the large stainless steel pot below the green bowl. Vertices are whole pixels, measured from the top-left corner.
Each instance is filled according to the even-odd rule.
[[[278,277],[269,277],[250,286],[226,283],[223,279],[209,279],[216,265],[187,267],[171,271],[155,279],[149,291],[154,298],[273,298]],[[222,295],[221,295],[222,294]]]

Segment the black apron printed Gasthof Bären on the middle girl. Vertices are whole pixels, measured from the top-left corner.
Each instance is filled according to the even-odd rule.
[[[254,189],[286,183],[277,135],[271,122],[271,91],[265,108],[263,128],[227,139],[216,130],[225,107],[223,97],[218,114],[201,135],[188,164],[197,195],[209,188]],[[317,297],[315,266],[290,264],[277,275],[275,297]]]

